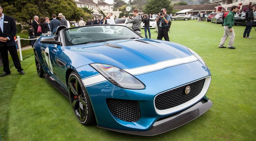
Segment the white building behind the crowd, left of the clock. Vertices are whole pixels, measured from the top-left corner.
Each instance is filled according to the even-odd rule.
[[[100,0],[74,0],[77,3],[77,7],[93,8],[93,16],[102,16],[99,14],[99,9],[102,10],[105,15],[113,13],[113,16],[119,16],[121,11],[113,11],[113,4],[108,4]]]

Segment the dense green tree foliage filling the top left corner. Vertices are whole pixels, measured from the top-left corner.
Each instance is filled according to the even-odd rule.
[[[18,22],[31,25],[35,15],[49,17],[62,13],[65,18],[78,20],[85,14],[74,0],[0,0],[4,14],[13,16]]]

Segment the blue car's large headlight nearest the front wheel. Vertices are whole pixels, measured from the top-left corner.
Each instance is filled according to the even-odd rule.
[[[125,89],[144,89],[145,86],[137,78],[127,73],[126,71],[108,65],[93,63],[90,64],[95,70],[102,74],[112,84]]]

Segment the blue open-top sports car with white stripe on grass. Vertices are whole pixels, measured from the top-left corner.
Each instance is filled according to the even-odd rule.
[[[153,136],[212,106],[210,70],[198,54],[126,26],[58,26],[34,53],[39,77],[70,99],[83,125]]]

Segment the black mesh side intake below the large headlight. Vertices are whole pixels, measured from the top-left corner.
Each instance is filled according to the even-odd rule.
[[[107,99],[106,101],[110,112],[121,120],[136,122],[141,118],[138,101],[122,99]]]

